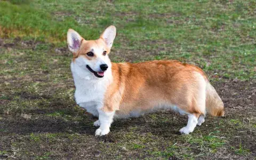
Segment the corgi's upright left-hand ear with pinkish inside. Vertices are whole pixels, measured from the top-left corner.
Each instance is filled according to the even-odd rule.
[[[81,43],[83,39],[84,38],[81,37],[75,30],[68,29],[68,33],[67,33],[68,49],[73,54],[77,53],[77,51],[81,47]]]

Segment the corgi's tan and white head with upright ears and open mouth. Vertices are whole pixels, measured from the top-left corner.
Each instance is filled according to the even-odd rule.
[[[73,53],[73,62],[92,75],[102,78],[111,62],[108,54],[116,36],[116,27],[109,26],[99,39],[85,40],[75,30],[67,33],[68,48]]]

